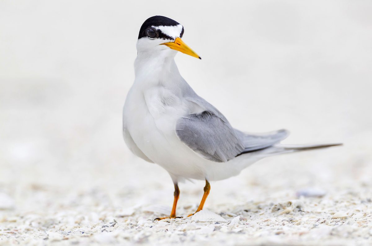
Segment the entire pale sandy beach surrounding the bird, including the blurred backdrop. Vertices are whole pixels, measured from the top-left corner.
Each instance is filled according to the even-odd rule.
[[[371,3],[188,3],[1,1],[0,245],[372,244]],[[180,72],[234,127],[345,145],[261,160],[153,222],[173,184],[126,148],[121,108],[155,14],[185,26],[203,60]],[[180,184],[179,216],[203,185]]]

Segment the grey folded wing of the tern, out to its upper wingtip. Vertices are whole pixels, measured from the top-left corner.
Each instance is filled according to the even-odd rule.
[[[204,99],[193,97],[189,101],[205,111],[181,117],[176,124],[176,134],[184,144],[208,160],[227,162],[238,155],[270,147],[288,135],[286,130],[257,135],[238,131]]]

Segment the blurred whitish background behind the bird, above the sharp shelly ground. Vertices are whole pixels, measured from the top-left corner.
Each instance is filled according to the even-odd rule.
[[[154,15],[185,27],[183,40],[202,60],[179,53],[179,70],[232,126],[286,128],[286,144],[344,143],[267,158],[212,182],[207,207],[307,187],[371,188],[371,9],[361,0],[2,0],[0,193],[18,210],[94,210],[91,199],[171,206],[169,175],[135,157],[121,131],[138,31]],[[180,184],[180,206],[198,203],[202,188]]]

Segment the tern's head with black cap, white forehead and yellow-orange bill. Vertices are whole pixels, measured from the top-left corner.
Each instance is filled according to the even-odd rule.
[[[174,56],[176,51],[200,58],[182,41],[183,26],[164,16],[153,16],[142,24],[137,41],[137,51],[145,53],[161,53]]]

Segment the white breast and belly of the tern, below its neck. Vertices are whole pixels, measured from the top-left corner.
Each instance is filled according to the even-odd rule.
[[[244,167],[237,161],[242,158],[216,163],[196,154],[179,140],[176,122],[190,114],[187,103],[164,88],[155,87],[145,92],[131,89],[123,119],[137,147],[173,177],[221,180],[240,173]]]

